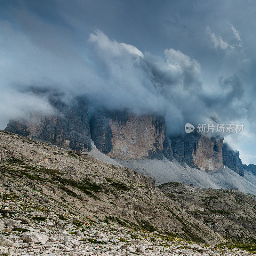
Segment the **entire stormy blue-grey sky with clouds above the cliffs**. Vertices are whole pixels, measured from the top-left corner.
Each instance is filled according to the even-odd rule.
[[[255,1],[1,1],[0,129],[51,112],[28,90],[50,88],[92,111],[165,111],[170,135],[244,124],[224,141],[256,164],[255,15]]]

